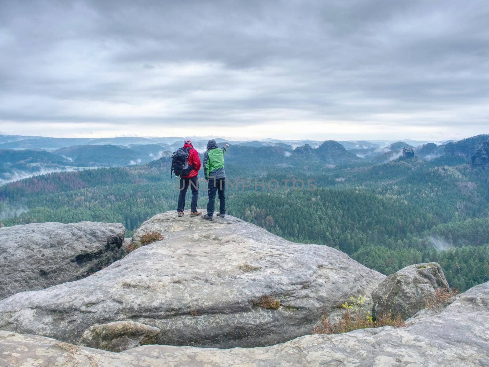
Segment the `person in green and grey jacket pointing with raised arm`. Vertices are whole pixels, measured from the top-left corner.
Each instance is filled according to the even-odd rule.
[[[226,213],[226,198],[224,196],[224,190],[226,186],[226,173],[224,172],[224,154],[229,148],[229,144],[226,144],[222,148],[217,147],[217,143],[214,139],[207,142],[207,151],[204,153],[204,177],[209,183],[208,195],[209,202],[207,203],[207,214],[204,214],[202,218],[207,220],[213,220],[214,215],[214,202],[216,200],[216,191],[219,193],[219,214],[218,216],[224,217]]]

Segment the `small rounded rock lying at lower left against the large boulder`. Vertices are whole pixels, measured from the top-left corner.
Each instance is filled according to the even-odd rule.
[[[122,352],[140,345],[155,344],[158,334],[157,327],[133,321],[116,321],[90,326],[82,334],[78,344],[111,352]]]

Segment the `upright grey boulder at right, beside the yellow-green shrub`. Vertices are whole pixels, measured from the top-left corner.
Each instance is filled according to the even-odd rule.
[[[426,307],[438,288],[449,289],[436,262],[409,265],[382,281],[372,293],[374,313],[398,314],[406,320]]]

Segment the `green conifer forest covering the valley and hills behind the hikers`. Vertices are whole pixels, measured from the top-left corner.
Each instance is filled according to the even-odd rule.
[[[228,214],[290,240],[338,248],[387,275],[437,261],[461,291],[489,280],[487,170],[472,168],[460,155],[372,166],[336,144],[325,142],[314,155],[307,146],[232,146],[226,154],[235,185],[228,187]],[[296,190],[302,185],[294,188],[294,180],[304,188]],[[14,214],[0,216],[0,225],[108,221],[123,223],[130,236],[149,217],[176,209],[175,182],[168,157],[32,177],[0,187],[0,211]],[[199,207],[206,202],[201,182]],[[16,215],[19,208],[25,213]]]

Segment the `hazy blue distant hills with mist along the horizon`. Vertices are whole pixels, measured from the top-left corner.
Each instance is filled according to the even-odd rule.
[[[113,137],[113,138],[49,138],[42,136],[0,135],[0,184],[58,171],[95,167],[121,167],[145,164],[161,157],[169,157],[183,145],[182,137]],[[379,165],[403,156],[404,148],[424,160],[438,159],[446,164],[471,162],[486,166],[485,151],[489,135],[477,135],[457,142],[437,145],[426,143],[414,148],[411,140],[388,141],[316,141],[264,139],[234,141],[216,138],[218,145],[231,144],[227,160],[267,166],[281,165],[307,167],[314,172],[326,165]],[[194,147],[200,153],[206,150],[207,140],[194,138]],[[482,163],[478,163],[478,162]],[[439,162],[440,163],[440,162]]]

